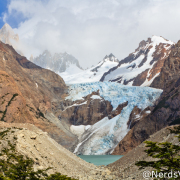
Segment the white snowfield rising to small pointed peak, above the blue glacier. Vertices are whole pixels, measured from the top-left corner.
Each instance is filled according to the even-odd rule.
[[[102,75],[112,67],[117,66],[119,60],[113,55],[106,55],[96,66],[72,75],[71,71],[61,73],[60,76],[67,84],[98,82]]]

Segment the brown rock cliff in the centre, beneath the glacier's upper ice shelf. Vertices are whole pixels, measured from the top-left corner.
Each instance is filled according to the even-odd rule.
[[[93,95],[99,99],[93,99]],[[66,100],[64,106],[60,116],[73,125],[93,125],[108,116],[113,109],[111,103],[101,98],[98,92],[89,94],[84,100]]]

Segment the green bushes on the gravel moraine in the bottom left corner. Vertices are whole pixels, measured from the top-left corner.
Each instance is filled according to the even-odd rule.
[[[48,175],[51,168],[34,171],[34,161],[16,152],[16,144],[8,145],[0,154],[0,180],[75,180],[57,172]]]

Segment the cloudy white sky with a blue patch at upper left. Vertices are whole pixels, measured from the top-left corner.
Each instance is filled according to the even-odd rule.
[[[67,52],[83,68],[127,57],[152,35],[180,39],[179,0],[0,0],[0,28],[18,33],[27,58]]]

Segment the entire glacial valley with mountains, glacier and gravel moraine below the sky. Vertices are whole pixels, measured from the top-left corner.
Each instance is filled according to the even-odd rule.
[[[5,24],[0,126],[15,131],[17,152],[34,159],[35,169],[53,166],[50,174],[82,180],[128,179],[132,169],[131,178],[137,179],[142,172],[134,173],[135,161],[148,159],[145,140],[178,143],[168,128],[180,123],[180,41],[152,36],[126,58],[110,53],[85,70],[66,52],[45,50],[28,60],[21,43]],[[12,141],[9,131],[7,137]],[[76,155],[124,156],[97,167]]]

